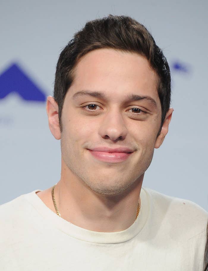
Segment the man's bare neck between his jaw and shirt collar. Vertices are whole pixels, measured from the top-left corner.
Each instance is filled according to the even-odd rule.
[[[94,192],[68,169],[64,169],[61,176],[54,196],[63,219],[97,232],[122,231],[135,221],[144,174],[116,195]]]

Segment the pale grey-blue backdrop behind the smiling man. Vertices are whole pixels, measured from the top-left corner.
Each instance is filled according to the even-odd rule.
[[[17,88],[11,85],[15,75],[5,73],[14,63],[51,95],[58,56],[74,32],[109,13],[132,16],[152,32],[168,59],[175,110],[143,186],[208,211],[207,8],[207,1],[190,0],[1,1],[0,95],[8,82]],[[23,100],[14,91],[1,98],[0,131],[0,204],[59,181],[60,142],[49,131],[45,102]]]

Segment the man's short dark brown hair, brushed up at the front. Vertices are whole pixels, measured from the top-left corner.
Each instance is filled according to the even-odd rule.
[[[111,14],[104,18],[88,21],[83,29],[74,34],[74,38],[59,56],[53,97],[59,108],[61,131],[64,98],[73,84],[74,68],[84,55],[100,48],[135,52],[149,61],[150,66],[158,75],[157,91],[162,108],[161,131],[171,102],[171,74],[168,62],[144,25],[129,16]]]

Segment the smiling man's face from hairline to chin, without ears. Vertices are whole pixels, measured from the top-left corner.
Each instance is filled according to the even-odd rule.
[[[92,190],[117,194],[149,167],[160,121],[157,75],[148,61],[114,49],[91,51],[64,100],[63,161]],[[110,154],[108,148],[128,150]]]

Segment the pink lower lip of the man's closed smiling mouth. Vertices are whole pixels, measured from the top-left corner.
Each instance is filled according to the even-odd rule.
[[[125,161],[127,158],[130,157],[132,153],[126,152],[103,152],[103,151],[91,151],[89,152],[98,160],[102,162],[109,162],[109,163],[119,163]]]

